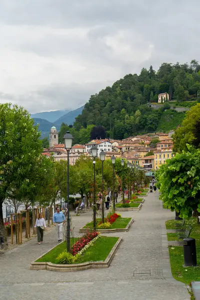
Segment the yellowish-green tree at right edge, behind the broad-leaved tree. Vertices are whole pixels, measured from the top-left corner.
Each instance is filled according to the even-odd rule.
[[[200,121],[200,103],[192,106],[189,111],[186,112],[186,116],[183,119],[181,125],[175,130],[173,135],[173,150],[175,152],[181,152],[187,150],[187,145],[196,146],[196,127]]]

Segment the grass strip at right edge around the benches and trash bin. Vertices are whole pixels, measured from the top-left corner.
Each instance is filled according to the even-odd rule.
[[[166,221],[167,229],[177,229],[175,223],[181,221],[169,220]],[[185,220],[185,226],[190,224],[192,230],[190,237],[195,238],[196,240],[196,257],[197,264],[200,265],[200,225],[198,225],[196,218],[192,217],[189,220]],[[176,233],[167,233],[168,240],[175,240]],[[182,246],[169,246],[169,256],[171,263],[171,272],[173,277],[176,280],[182,281],[184,283],[189,283],[190,281],[199,281],[200,280],[200,266],[192,267],[187,266],[183,267],[184,257],[183,257],[183,247]]]

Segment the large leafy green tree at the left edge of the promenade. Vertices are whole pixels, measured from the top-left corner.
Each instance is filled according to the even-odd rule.
[[[20,194],[29,194],[29,174],[42,151],[40,133],[33,123],[22,107],[0,104],[0,232],[5,244],[2,203],[13,186]]]

